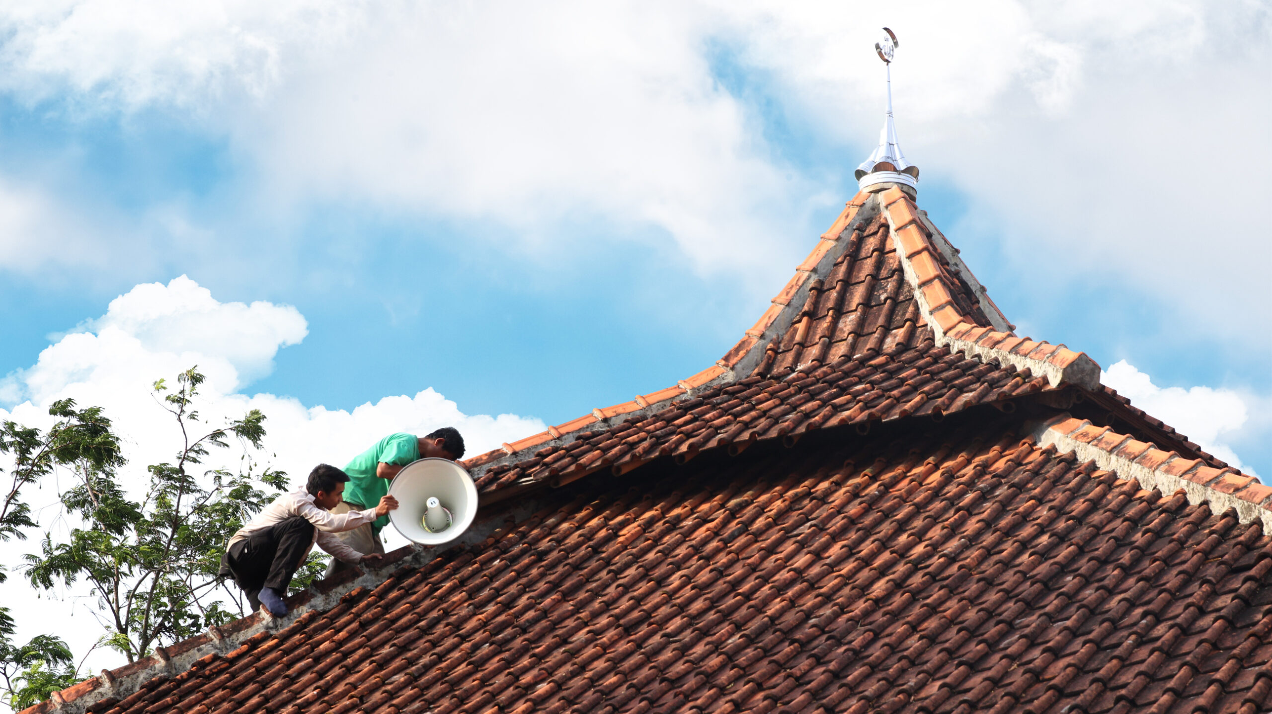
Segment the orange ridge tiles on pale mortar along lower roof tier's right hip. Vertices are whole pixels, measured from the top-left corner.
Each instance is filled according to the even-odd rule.
[[[1161,451],[1152,443],[1114,432],[1109,427],[1077,419],[1067,412],[1025,429],[1039,447],[1054,446],[1072,451],[1082,461],[1094,461],[1122,479],[1135,479],[1146,490],[1163,495],[1183,489],[1192,504],[1206,503],[1211,512],[1234,508],[1243,523],[1258,520],[1263,532],[1272,532],[1272,488],[1258,478],[1231,466],[1216,469],[1201,459],[1184,459],[1174,451]]]

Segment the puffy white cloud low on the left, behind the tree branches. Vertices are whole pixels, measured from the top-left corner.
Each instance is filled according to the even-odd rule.
[[[145,488],[145,466],[170,461],[181,443],[172,415],[151,399],[150,385],[167,377],[176,386],[176,375],[193,365],[207,376],[198,404],[204,418],[219,426],[223,417],[238,418],[248,409],[261,409],[267,431],[261,462],[287,471],[293,485],[301,484],[314,465],[343,466],[377,440],[397,431],[422,434],[454,426],[464,436],[468,455],[476,455],[546,428],[539,419],[514,414],[464,414],[431,387],[413,396],[384,396],[352,412],[243,391],[252,379],[271,370],[280,348],[299,343],[305,334],[305,319],[287,305],[219,302],[184,276],[168,285],[139,285],[111,301],[107,313],[86,321],[83,332],[60,337],[41,352],[33,366],[0,382],[0,396],[8,398],[9,404],[24,399],[8,410],[0,409],[0,421],[47,428],[48,404],[67,396],[81,407],[104,407],[126,438],[130,464],[122,471],[122,480],[136,495]],[[237,469],[239,456],[237,448],[218,451],[206,466]],[[53,485],[28,489],[25,501],[37,509],[41,526],[57,532],[65,523],[57,517]],[[20,553],[33,550],[37,542],[38,537],[32,537],[0,544],[0,563],[20,563]],[[389,537],[389,548],[403,542],[396,534]],[[78,588],[62,595],[70,596],[75,605],[37,598],[18,573],[10,573],[9,581],[0,586],[0,602],[22,611],[19,634],[27,638],[46,631],[42,628],[50,621],[62,621],[69,611],[90,620],[85,607],[92,606],[92,598],[76,600],[83,596]],[[78,628],[57,628],[56,634],[83,654],[100,630],[88,621]],[[122,663],[116,659],[102,652],[94,654],[92,663],[94,668]]]

